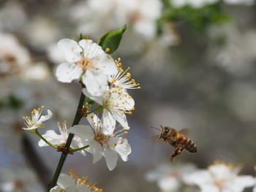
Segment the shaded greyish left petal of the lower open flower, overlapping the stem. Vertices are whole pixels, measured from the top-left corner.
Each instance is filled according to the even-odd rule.
[[[77,137],[80,137],[83,140],[94,139],[94,131],[91,130],[90,126],[72,126],[72,128],[69,128],[69,132],[75,134]]]

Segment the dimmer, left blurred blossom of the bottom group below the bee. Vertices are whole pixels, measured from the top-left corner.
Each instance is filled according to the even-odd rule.
[[[178,191],[183,184],[184,177],[195,171],[192,164],[160,164],[154,171],[146,174],[146,180],[157,181],[162,191]]]

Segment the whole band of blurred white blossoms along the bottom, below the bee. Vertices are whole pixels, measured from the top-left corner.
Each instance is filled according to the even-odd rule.
[[[208,169],[196,169],[191,164],[170,166],[160,165],[156,170],[146,174],[146,180],[157,181],[162,191],[179,191],[187,186],[197,186],[206,192],[241,192],[244,188],[254,187],[256,179],[250,175],[238,175],[241,166],[215,161]]]

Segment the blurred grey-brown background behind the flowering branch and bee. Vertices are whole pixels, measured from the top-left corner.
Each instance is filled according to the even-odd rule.
[[[256,6],[253,0],[65,0],[0,1],[0,191],[45,191],[60,153],[39,147],[39,138],[23,131],[34,107],[53,112],[46,123],[71,126],[80,85],[55,77],[63,61],[57,42],[97,41],[127,23],[120,57],[140,90],[129,91],[135,112],[128,117],[132,146],[129,161],[109,172],[105,159],[69,155],[63,172],[89,176],[105,191],[159,191],[146,173],[170,164],[170,145],[152,142],[150,126],[189,128],[198,147],[184,152],[173,167],[206,169],[219,159],[243,164],[255,175]],[[86,123],[83,120],[82,123]],[[195,188],[195,191],[198,191]]]

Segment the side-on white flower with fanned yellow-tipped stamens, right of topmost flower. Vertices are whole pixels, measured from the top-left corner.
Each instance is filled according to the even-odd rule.
[[[118,58],[118,60],[115,60],[116,70],[113,72],[113,74],[110,75],[108,78],[108,81],[110,82],[110,86],[114,88],[124,88],[124,89],[135,89],[135,88],[140,88],[138,87],[138,83],[135,82],[134,79],[131,80],[132,75],[127,72],[129,70],[129,67],[127,70],[123,70],[121,68],[121,58]]]

